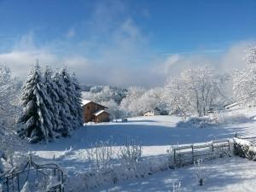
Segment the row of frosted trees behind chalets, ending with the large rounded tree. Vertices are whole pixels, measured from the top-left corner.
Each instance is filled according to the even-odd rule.
[[[224,88],[227,78],[208,66],[186,69],[176,77],[166,80],[163,87],[146,90],[130,87],[120,102],[113,100],[114,93],[105,86],[101,91],[95,87],[85,92],[84,98],[100,102],[108,107],[113,119],[123,116],[143,115],[148,110],[160,109],[161,113],[189,116],[206,115],[209,110],[224,106]]]

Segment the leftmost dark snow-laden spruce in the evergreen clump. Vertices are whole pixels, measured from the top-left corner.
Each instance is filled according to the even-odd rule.
[[[19,136],[27,138],[29,143],[51,141],[54,138],[53,117],[49,110],[52,103],[38,64],[32,68],[22,87],[20,105],[23,112],[18,119]]]

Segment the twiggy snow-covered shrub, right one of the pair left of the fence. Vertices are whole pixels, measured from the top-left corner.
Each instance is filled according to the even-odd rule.
[[[125,165],[135,165],[142,157],[143,148],[138,139],[126,138],[125,146],[120,147],[119,157]]]

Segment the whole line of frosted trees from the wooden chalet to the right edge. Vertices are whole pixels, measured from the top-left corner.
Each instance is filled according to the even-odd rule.
[[[163,87],[130,87],[119,95],[108,86],[95,86],[84,93],[84,98],[109,107],[113,118],[142,115],[154,108],[184,117],[204,116],[224,108],[230,100],[255,106],[256,47],[247,49],[245,61],[245,68],[230,74],[217,73],[209,66],[193,67],[167,78]],[[228,86],[233,86],[233,96],[228,93]]]

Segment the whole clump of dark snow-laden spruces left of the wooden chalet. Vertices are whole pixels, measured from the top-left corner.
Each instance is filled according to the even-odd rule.
[[[21,89],[18,134],[30,143],[67,137],[82,125],[81,91],[75,76],[66,68],[53,72],[38,64]]]

